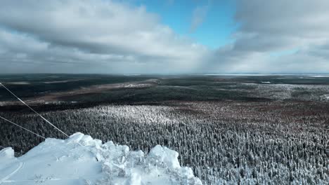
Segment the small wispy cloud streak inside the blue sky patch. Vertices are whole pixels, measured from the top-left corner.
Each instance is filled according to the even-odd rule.
[[[193,10],[190,32],[195,32],[195,30],[198,29],[200,25],[202,25],[202,22],[207,17],[208,9],[209,9],[209,5],[205,5],[205,6],[197,6]]]

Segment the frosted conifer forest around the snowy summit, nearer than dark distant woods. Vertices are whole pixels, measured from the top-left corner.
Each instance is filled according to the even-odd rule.
[[[3,109],[5,110],[5,109]],[[204,184],[328,184],[329,104],[299,101],[112,104],[41,112],[58,128],[149,151],[180,154]],[[64,136],[28,109],[1,116],[44,137]],[[0,121],[0,145],[17,155],[42,139]]]

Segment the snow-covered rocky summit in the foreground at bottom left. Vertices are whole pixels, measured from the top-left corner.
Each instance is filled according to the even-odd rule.
[[[202,184],[178,156],[160,145],[145,154],[77,132],[65,140],[46,139],[19,158],[10,147],[2,149],[0,184]]]

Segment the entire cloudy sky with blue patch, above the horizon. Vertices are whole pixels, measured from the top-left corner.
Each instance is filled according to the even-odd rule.
[[[3,0],[0,73],[328,73],[328,0]]]

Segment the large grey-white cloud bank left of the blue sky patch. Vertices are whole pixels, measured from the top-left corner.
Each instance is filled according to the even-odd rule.
[[[101,0],[3,1],[0,48],[6,48],[0,49],[1,69],[21,60],[39,62],[45,71],[48,63],[60,70],[84,63],[82,72],[192,71],[206,51],[143,6]]]

